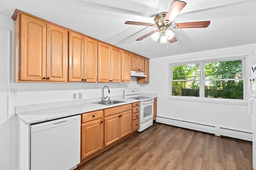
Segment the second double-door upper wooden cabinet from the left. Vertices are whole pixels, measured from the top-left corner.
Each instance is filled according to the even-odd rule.
[[[68,65],[68,81],[97,82],[98,41],[70,31]]]

